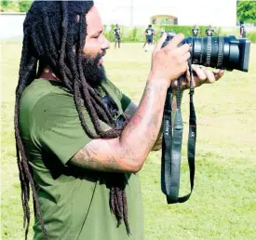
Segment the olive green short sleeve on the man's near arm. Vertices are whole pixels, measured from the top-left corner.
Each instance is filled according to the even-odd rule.
[[[85,107],[82,113],[88,129],[95,135]],[[92,140],[81,126],[72,96],[47,95],[35,104],[33,114],[34,140],[47,153],[56,155],[63,165]],[[101,122],[101,127],[108,126]]]

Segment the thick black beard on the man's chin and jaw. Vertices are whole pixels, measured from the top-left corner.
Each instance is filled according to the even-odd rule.
[[[99,60],[104,54],[98,54],[92,59],[90,56],[83,57],[82,66],[85,78],[91,87],[99,87],[105,82],[107,77],[103,65],[99,65]]]

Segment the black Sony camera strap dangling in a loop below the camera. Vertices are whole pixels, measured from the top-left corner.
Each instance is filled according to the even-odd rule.
[[[192,194],[195,180],[195,141],[196,141],[196,117],[193,101],[194,86],[192,81],[192,69],[190,71],[190,116],[189,116],[189,135],[187,145],[188,166],[190,170],[190,193],[179,197],[180,179],[181,179],[181,158],[182,158],[182,89],[181,81],[178,80],[177,89],[177,109],[172,130],[171,113],[172,100],[171,90],[168,88],[167,99],[163,117],[163,141],[162,141],[162,166],[161,166],[161,189],[167,196],[168,204],[183,203],[187,201]]]

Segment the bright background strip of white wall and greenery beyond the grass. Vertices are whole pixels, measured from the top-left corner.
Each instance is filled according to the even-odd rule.
[[[22,36],[22,23],[25,12],[33,1],[1,1],[0,38]],[[146,0],[95,0],[105,25],[105,34],[114,41],[113,29],[118,23],[122,30],[123,42],[143,42],[144,31],[152,24],[157,35],[160,31],[174,31],[191,34],[196,24],[204,36],[211,25],[215,35],[239,35],[239,21],[243,20],[247,37],[256,42],[256,2],[236,0],[181,0],[181,1],[146,1]]]

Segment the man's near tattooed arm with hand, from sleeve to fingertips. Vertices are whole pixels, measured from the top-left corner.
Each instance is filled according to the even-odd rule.
[[[175,35],[166,47],[164,34],[155,46],[149,78],[141,103],[119,138],[91,140],[70,160],[78,167],[100,171],[138,172],[159,133],[167,89],[187,69],[189,46]]]

